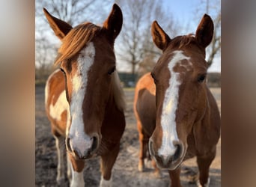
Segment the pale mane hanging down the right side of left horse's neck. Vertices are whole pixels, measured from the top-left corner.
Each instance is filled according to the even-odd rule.
[[[117,71],[113,73],[112,89],[113,89],[115,104],[117,105],[119,110],[124,111],[126,108],[126,104],[124,100],[124,91],[121,88],[121,82],[120,82]]]

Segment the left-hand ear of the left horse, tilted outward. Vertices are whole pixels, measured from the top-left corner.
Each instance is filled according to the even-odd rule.
[[[49,22],[52,30],[54,31],[55,35],[62,40],[67,33],[72,29],[72,26],[67,22],[62,21],[61,19],[52,16],[46,8],[43,8],[43,13],[46,15],[46,19]]]

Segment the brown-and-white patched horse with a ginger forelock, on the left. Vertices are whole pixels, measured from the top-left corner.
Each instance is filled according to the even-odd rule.
[[[64,143],[70,186],[85,186],[85,159],[101,156],[100,186],[111,186],[112,167],[125,129],[124,93],[115,71],[115,38],[123,16],[114,4],[103,27],[85,22],[72,28],[43,10],[62,41],[56,70],[46,82],[46,113],[58,150],[57,182],[64,180]],[[68,171],[70,178],[70,171]]]

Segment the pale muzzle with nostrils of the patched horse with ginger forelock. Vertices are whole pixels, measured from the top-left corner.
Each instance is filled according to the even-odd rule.
[[[97,152],[100,146],[100,136],[95,134],[91,137],[66,138],[67,151],[72,153],[76,159],[89,159]]]

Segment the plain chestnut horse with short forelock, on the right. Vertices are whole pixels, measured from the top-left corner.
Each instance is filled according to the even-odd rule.
[[[151,75],[143,76],[135,88],[141,144],[138,168],[144,168],[148,144],[156,165],[168,170],[171,186],[181,186],[181,162],[197,156],[198,185],[207,186],[220,136],[219,109],[205,82],[205,48],[213,37],[213,21],[205,14],[195,36],[171,39],[156,21],[151,33],[162,55]]]

